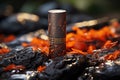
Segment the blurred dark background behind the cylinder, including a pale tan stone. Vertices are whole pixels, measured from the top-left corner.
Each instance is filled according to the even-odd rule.
[[[0,0],[0,33],[47,29],[50,9],[67,10],[67,24],[120,13],[119,0]]]

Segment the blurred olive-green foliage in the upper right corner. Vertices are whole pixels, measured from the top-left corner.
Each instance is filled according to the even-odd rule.
[[[59,0],[91,14],[119,13],[120,0]]]

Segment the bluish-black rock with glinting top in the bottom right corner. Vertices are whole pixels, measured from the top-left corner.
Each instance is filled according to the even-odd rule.
[[[107,61],[93,73],[94,80],[120,80],[120,64]]]

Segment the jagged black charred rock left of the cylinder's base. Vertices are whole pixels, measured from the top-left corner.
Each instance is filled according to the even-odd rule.
[[[23,65],[26,68],[37,68],[47,60],[47,56],[41,52],[33,51],[32,48],[14,49],[10,53],[4,55],[0,61],[1,67],[9,64]]]

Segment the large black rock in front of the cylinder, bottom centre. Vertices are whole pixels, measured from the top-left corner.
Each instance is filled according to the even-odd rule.
[[[86,63],[83,55],[57,57],[38,77],[40,80],[75,80],[84,71]]]

